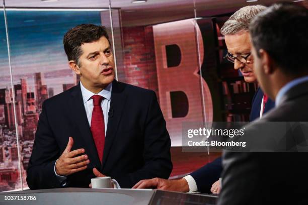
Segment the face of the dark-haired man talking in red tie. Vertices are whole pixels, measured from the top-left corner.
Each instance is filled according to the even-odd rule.
[[[106,37],[81,45],[79,58],[82,83],[89,87],[105,87],[114,79],[114,59]]]

